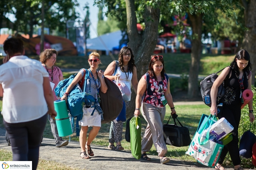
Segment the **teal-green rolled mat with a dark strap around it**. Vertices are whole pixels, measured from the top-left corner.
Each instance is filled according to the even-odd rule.
[[[56,125],[58,129],[59,136],[68,136],[72,134],[70,121],[68,117],[68,109],[65,100],[54,101],[54,109],[57,112],[55,117]]]

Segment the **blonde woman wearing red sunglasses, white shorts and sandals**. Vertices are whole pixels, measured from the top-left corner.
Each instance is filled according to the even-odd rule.
[[[105,83],[104,80],[104,75],[102,71],[100,70],[97,72],[97,68],[99,67],[100,62],[100,55],[97,52],[92,52],[89,55],[88,63],[90,65],[90,77],[87,79],[87,81],[84,81],[86,85],[85,92],[91,94],[95,99],[97,99],[98,102],[100,99],[99,96],[99,90],[102,93],[106,93],[108,90],[108,87]],[[81,69],[79,73],[76,75],[74,80],[71,82],[71,84],[68,86],[66,92],[64,93],[64,96],[61,97],[61,100],[66,100],[67,102],[67,95],[68,93],[75,87],[75,85],[82,80],[84,75],[84,70]],[[82,90],[84,90],[84,85],[82,87]],[[96,108],[100,108],[100,105],[98,105]],[[101,127],[101,117],[102,115],[102,110],[99,112],[98,109],[95,109],[93,115],[94,108],[86,108],[84,106],[83,111],[83,118],[80,120],[81,123],[81,131],[80,131],[80,136],[79,136],[79,142],[81,146],[81,152],[80,152],[80,157],[82,159],[89,159],[89,156],[94,156],[94,153],[91,148],[91,143],[93,139],[96,137],[96,135],[99,133],[100,127]],[[91,126],[92,129],[88,135],[87,139],[87,131],[88,127]],[[88,155],[86,154],[86,150],[88,152]]]

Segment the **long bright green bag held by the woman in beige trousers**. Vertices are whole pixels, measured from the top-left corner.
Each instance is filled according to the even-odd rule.
[[[131,133],[131,151],[132,156],[136,159],[141,157],[141,121],[139,117],[133,117],[130,120]]]

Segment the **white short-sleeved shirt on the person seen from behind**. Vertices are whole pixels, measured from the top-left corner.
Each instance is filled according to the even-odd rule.
[[[37,60],[15,56],[0,66],[4,89],[2,114],[7,123],[36,120],[47,112],[43,79],[49,77]]]

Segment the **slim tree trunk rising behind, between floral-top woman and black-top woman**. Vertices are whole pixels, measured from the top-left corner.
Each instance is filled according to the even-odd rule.
[[[188,78],[188,97],[194,98],[198,95],[198,73],[201,57],[202,18],[203,14],[190,14],[189,19],[192,26],[191,65]]]

